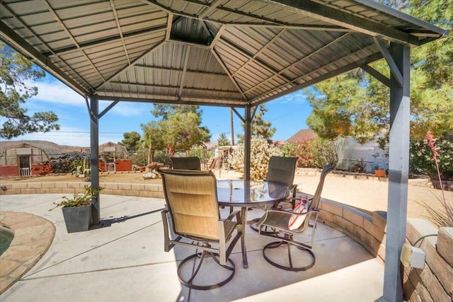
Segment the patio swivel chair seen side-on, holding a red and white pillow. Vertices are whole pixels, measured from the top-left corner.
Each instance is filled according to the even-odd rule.
[[[263,257],[271,265],[293,272],[304,271],[314,266],[316,261],[316,257],[313,252],[314,232],[316,230],[316,222],[319,215],[321,192],[323,190],[326,175],[334,168],[334,165],[326,165],[323,168],[316,192],[311,199],[306,200],[306,204],[304,204],[301,199],[301,202],[299,202],[299,204],[297,204],[297,206],[291,211],[268,209],[263,216],[263,219],[258,222],[258,232],[261,235],[278,239],[278,241],[268,243],[263,248]],[[310,224],[310,221],[313,221],[312,224]],[[275,232],[263,232],[262,230],[265,227],[271,228],[275,230]],[[294,240],[294,234],[305,233],[309,230],[309,228],[311,228],[311,245]],[[267,252],[285,245],[287,246],[287,252],[285,252],[287,257],[282,257],[283,254],[281,252],[277,252],[273,255],[275,260],[271,260],[271,256],[268,255]],[[296,250],[308,252],[310,262],[306,265],[294,265],[291,249],[292,246],[296,247]],[[305,259],[304,257],[298,257],[297,260],[299,261],[302,258]]]

